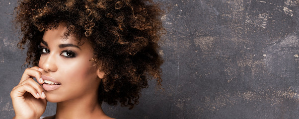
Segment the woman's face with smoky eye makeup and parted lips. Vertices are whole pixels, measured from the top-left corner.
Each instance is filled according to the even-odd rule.
[[[78,45],[73,35],[65,38],[65,32],[66,27],[62,25],[58,29],[48,29],[41,41],[42,55],[38,66],[44,69],[42,87],[50,102],[96,95],[100,83],[97,67],[91,61],[93,49],[90,43],[82,39],[84,44]]]

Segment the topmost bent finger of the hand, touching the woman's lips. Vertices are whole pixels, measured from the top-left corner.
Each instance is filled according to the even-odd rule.
[[[37,66],[31,67],[31,68],[26,68],[19,84],[21,82],[23,82],[24,80],[26,80],[28,78],[33,78],[33,77],[36,78],[38,83],[42,84],[42,83],[44,83],[44,81],[41,80],[41,75],[42,75],[42,73],[41,73],[41,71],[39,71]]]

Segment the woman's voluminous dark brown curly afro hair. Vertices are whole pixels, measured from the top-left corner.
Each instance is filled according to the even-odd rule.
[[[152,0],[22,0],[15,7],[21,28],[20,49],[27,44],[27,66],[38,65],[45,29],[67,26],[65,36],[87,38],[93,61],[105,73],[98,102],[129,107],[139,103],[142,88],[154,78],[160,86],[163,60],[158,41],[163,34],[160,4]]]

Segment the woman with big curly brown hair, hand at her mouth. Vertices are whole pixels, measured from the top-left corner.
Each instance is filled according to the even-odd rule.
[[[14,118],[40,119],[47,101],[57,111],[44,119],[111,119],[102,102],[132,109],[148,79],[162,81],[161,14],[151,0],[20,1],[18,46],[33,67],[10,93]]]

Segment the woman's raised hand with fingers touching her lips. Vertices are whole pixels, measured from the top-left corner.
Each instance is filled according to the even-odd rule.
[[[40,84],[43,69],[34,66],[27,68],[17,86],[10,92],[15,119],[39,119],[46,110],[47,100]],[[36,83],[33,80],[36,78]]]

